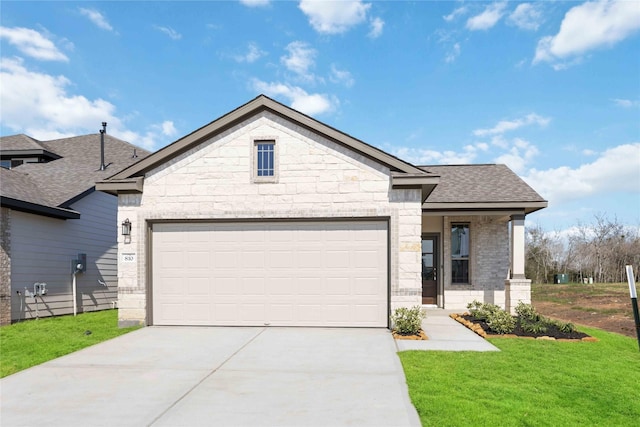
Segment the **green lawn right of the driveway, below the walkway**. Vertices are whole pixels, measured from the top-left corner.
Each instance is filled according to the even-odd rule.
[[[638,342],[581,330],[600,341],[490,339],[500,352],[399,353],[422,424],[638,425]]]

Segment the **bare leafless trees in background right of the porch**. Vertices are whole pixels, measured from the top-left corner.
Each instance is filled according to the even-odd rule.
[[[569,233],[527,228],[525,273],[534,283],[550,283],[554,274],[568,273],[573,281],[624,282],[624,266],[640,265],[639,228],[617,218],[594,216],[593,224],[578,224]]]

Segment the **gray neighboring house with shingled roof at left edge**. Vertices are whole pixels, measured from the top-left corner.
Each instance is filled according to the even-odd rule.
[[[79,254],[86,265],[76,275],[77,312],[116,306],[118,200],[95,191],[95,182],[149,153],[105,134],[101,156],[101,136],[0,138],[2,324],[73,313],[71,265]],[[46,283],[37,298],[35,283]]]

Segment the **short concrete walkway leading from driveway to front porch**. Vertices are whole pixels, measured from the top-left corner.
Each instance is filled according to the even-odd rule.
[[[496,346],[475,332],[449,317],[451,310],[427,309],[422,329],[429,338],[426,341],[396,340],[398,351],[500,351]]]

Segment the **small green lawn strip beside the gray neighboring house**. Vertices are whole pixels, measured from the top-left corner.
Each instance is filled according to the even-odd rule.
[[[126,334],[118,310],[27,320],[0,328],[0,378]],[[85,334],[91,331],[91,334]]]

